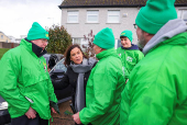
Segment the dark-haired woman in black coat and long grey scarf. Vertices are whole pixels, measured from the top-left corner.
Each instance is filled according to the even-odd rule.
[[[62,79],[62,82],[55,83],[55,90],[65,89],[69,84],[73,88],[72,102],[76,110],[79,112],[85,107],[85,94],[86,84],[91,69],[97,61],[82,53],[79,45],[70,45],[65,53],[64,65],[67,67],[67,71]]]

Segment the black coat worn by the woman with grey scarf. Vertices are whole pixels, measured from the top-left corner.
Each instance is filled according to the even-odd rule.
[[[94,64],[94,67],[96,66],[96,64],[97,64],[97,61]],[[91,70],[85,72],[85,76],[84,76],[84,90],[85,90],[85,92],[86,92],[86,84],[87,84],[90,72],[91,72]],[[74,105],[75,105],[75,93],[76,93],[77,78],[78,78],[78,73],[74,72],[72,67],[68,67],[67,71],[64,75],[61,82],[53,84],[55,90],[62,90],[62,91],[63,91],[63,89],[70,86],[73,88],[72,101],[73,101]]]

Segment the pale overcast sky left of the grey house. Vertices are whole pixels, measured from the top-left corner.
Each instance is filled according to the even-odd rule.
[[[61,23],[62,0],[0,0],[0,31],[20,38],[33,22],[43,27]]]

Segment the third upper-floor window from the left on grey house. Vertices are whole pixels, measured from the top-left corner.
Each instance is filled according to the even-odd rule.
[[[108,23],[120,23],[120,11],[119,10],[108,11]]]

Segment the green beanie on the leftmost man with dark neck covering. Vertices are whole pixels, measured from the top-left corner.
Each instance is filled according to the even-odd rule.
[[[48,32],[46,32],[37,22],[34,22],[28,33],[28,39],[32,41],[40,38],[50,39]]]

